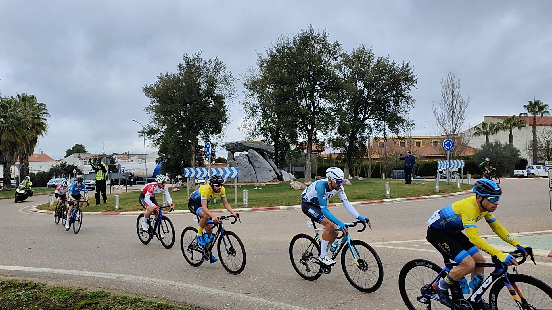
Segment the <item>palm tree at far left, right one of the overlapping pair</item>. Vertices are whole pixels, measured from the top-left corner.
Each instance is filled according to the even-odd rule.
[[[25,143],[25,148],[19,152],[19,164],[21,167],[19,172],[22,175],[28,175],[29,156],[33,154],[38,144],[38,138],[44,136],[48,130],[48,120],[46,117],[50,116],[50,114],[48,113],[46,104],[39,103],[35,95],[17,94],[17,98],[12,97],[12,99],[19,101],[29,119],[29,140]]]

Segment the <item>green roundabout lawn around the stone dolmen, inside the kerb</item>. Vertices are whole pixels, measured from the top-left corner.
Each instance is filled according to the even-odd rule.
[[[381,180],[381,179],[364,179],[351,180],[352,185],[344,185],[345,193],[349,198],[349,201],[364,201],[364,200],[376,200],[385,199],[385,182],[390,183],[391,198],[412,197],[412,196],[427,196],[436,195],[435,181],[434,180],[413,180],[411,185],[406,185],[404,180]],[[231,185],[225,185],[226,198],[230,205],[234,207],[234,189]],[[250,207],[266,207],[266,206],[285,206],[285,205],[299,205],[301,203],[302,190],[291,189],[288,183],[281,184],[267,184],[262,189],[254,189],[254,185],[242,185],[238,188],[238,207],[243,207],[242,190],[247,190],[249,193],[249,205]],[[461,190],[468,190],[471,186],[467,184],[461,184],[461,189],[457,189],[455,184],[446,185],[444,182],[440,183],[440,194],[455,193]],[[190,189],[190,193],[191,193]],[[119,210],[118,211],[141,211],[143,210],[138,203],[138,197],[140,192],[133,193],[121,193],[119,196]],[[181,189],[177,192],[171,192],[171,197],[175,204],[175,210],[188,210],[188,196],[186,189]],[[108,195],[108,204],[93,206],[94,197],[91,198],[91,205],[83,208],[83,211],[113,211],[115,208],[113,195]],[[158,195],[157,202],[162,204],[162,196]],[[339,202],[337,195],[333,197],[330,202]],[[217,200],[217,203],[211,202],[209,204],[210,209],[222,209],[221,201]],[[54,210],[55,206],[49,204],[39,206],[39,209]]]

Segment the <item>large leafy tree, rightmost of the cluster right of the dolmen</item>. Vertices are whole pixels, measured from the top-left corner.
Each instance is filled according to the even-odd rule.
[[[337,140],[345,154],[345,175],[352,161],[367,152],[367,133],[389,131],[396,136],[413,128],[408,111],[414,104],[410,91],[416,76],[409,63],[398,64],[389,57],[375,58],[363,45],[342,54],[343,97]]]

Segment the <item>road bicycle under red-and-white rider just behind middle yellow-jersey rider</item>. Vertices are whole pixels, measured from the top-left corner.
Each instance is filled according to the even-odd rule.
[[[174,245],[174,226],[171,220],[163,215],[163,208],[165,207],[160,206],[159,210],[153,213],[154,220],[151,220],[149,217],[146,219],[147,231],[142,229],[142,217],[144,217],[144,213],[139,215],[136,220],[136,233],[138,233],[141,243],[148,244],[153,237],[157,237],[164,248],[170,249]],[[172,209],[169,210],[169,213],[171,211]]]

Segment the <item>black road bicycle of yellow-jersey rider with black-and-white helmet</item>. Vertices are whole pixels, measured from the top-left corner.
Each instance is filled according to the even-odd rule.
[[[230,224],[234,224],[240,220],[239,213],[236,214],[238,215],[237,217],[233,215],[219,217],[219,223],[217,224],[215,224],[213,220],[207,222],[208,225],[214,224],[213,229],[218,228],[215,238],[208,243],[209,246],[199,245],[198,241],[195,239],[195,236],[198,234],[197,228],[192,226],[184,228],[180,237],[180,247],[182,255],[184,255],[188,264],[198,267],[203,264],[204,261],[210,260],[212,255],[211,250],[213,250],[216,243],[222,267],[232,275],[238,275],[243,271],[246,263],[243,243],[236,233],[227,231],[222,225],[222,221],[230,220],[230,218],[234,218],[234,221]],[[199,216],[194,218],[194,221],[196,220],[199,221]]]

